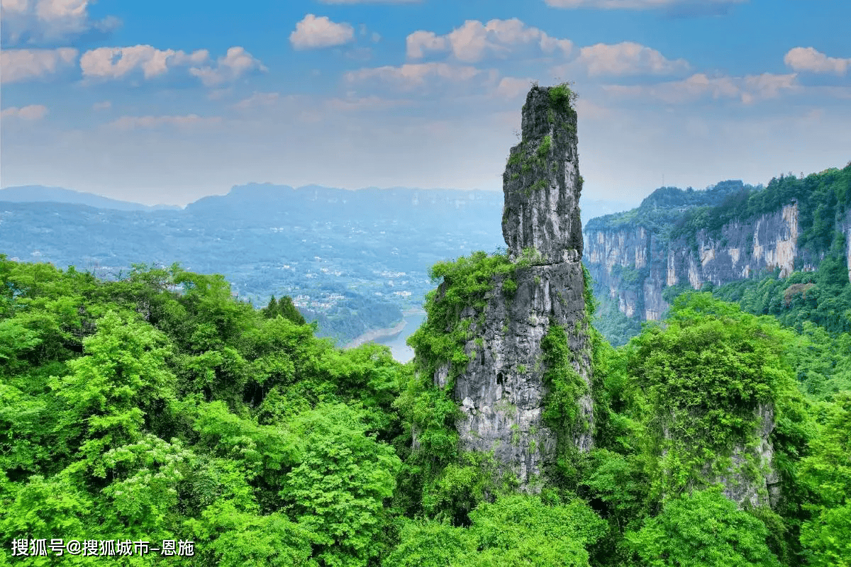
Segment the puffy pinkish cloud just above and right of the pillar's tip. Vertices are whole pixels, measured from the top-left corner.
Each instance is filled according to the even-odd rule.
[[[581,48],[578,61],[588,74],[599,75],[669,75],[688,69],[686,60],[669,60],[655,49],[639,43],[622,42],[614,45],[597,43]]]

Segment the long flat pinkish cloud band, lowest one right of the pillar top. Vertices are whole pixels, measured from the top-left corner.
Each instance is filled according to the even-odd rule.
[[[746,77],[708,77],[696,73],[682,81],[661,82],[656,85],[604,85],[611,94],[659,99],[670,104],[684,104],[696,99],[740,99],[745,104],[760,99],[774,99],[782,91],[799,88],[797,74],[748,75]]]

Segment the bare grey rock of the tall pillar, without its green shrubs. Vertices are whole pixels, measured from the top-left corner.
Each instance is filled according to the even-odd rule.
[[[592,443],[576,143],[567,88],[533,87],[523,106],[522,141],[511,148],[503,176],[503,235],[509,257],[526,258],[524,267],[511,279],[495,276],[484,307],[461,315],[474,337],[465,344],[470,361],[454,381],[454,399],[463,412],[456,422],[462,449],[494,451],[523,490],[540,487],[559,444],[587,451]],[[548,368],[542,340],[552,325],[565,330],[573,354],[569,364],[585,385],[576,400],[578,425],[551,427],[543,417]],[[435,383],[446,383],[448,368],[437,371]]]

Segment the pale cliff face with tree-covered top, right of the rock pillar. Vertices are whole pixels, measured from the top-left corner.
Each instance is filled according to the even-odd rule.
[[[585,262],[597,297],[635,321],[660,320],[674,292],[814,272],[829,256],[842,256],[851,281],[849,204],[849,166],[764,189],[663,188],[637,209],[592,218]]]

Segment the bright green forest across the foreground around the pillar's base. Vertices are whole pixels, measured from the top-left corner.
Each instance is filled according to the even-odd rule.
[[[463,280],[464,303],[511,269],[478,254],[431,275]],[[428,323],[402,365],[315,337],[288,298],[254,309],[219,275],[101,281],[0,256],[0,564],[848,567],[837,269],[684,292],[617,349],[593,331],[595,446],[525,494],[459,450],[428,353],[466,354]],[[818,309],[779,319],[783,301]],[[427,298],[432,323],[445,309]],[[749,452],[765,411],[770,471]],[[719,482],[769,476],[742,507]]]

